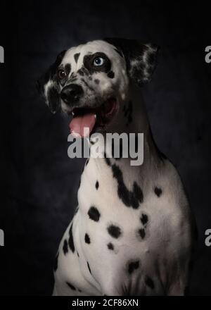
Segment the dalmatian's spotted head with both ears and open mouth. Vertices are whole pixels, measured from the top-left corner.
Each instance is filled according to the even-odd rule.
[[[63,51],[37,86],[51,112],[72,114],[70,130],[105,128],[127,98],[130,82],[151,79],[158,47],[132,39],[104,39]]]

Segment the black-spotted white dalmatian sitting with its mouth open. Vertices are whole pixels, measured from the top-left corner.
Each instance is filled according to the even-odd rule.
[[[72,135],[89,128],[144,137],[140,166],[106,154],[85,163],[56,255],[53,295],[186,292],[193,216],[179,174],[155,145],[141,97],[157,52],[133,39],[95,40],[60,53],[38,81],[51,111],[72,118]]]

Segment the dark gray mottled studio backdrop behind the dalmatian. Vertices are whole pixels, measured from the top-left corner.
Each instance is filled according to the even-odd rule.
[[[161,46],[158,68],[143,95],[155,141],[177,166],[196,216],[199,240],[191,294],[211,294],[211,248],[204,243],[205,230],[211,228],[206,6],[119,0],[4,5],[0,294],[51,294],[53,257],[77,204],[84,161],[68,158],[68,117],[53,116],[34,84],[60,51],[102,37]]]

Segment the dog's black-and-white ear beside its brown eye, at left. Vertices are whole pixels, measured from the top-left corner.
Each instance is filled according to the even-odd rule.
[[[60,85],[57,79],[57,68],[60,65],[66,51],[58,54],[56,61],[49,67],[49,69],[41,75],[37,80],[37,89],[44,97],[46,104],[52,113],[56,113],[60,109]]]

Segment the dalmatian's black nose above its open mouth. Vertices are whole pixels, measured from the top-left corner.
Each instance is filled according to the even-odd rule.
[[[60,92],[60,97],[63,99],[65,104],[73,104],[79,101],[79,98],[83,94],[83,89],[77,84],[67,85]]]

